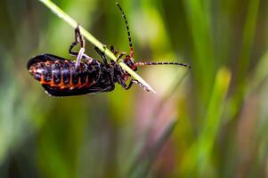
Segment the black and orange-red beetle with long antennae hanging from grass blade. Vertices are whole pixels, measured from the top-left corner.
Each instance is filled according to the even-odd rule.
[[[145,65],[179,65],[189,67],[178,62],[134,62],[134,48],[131,42],[130,30],[126,20],[125,12],[117,3],[118,9],[125,20],[129,55],[119,53],[114,47],[110,46],[110,51],[118,54],[117,61],[107,62],[105,54],[96,46],[94,49],[102,57],[102,61],[93,60],[85,54],[85,40],[81,35],[79,26],[75,29],[75,41],[69,46],[69,54],[76,56],[77,60],[72,61],[53,54],[41,54],[28,61],[28,72],[36,78],[45,88],[45,92],[52,96],[73,96],[81,94],[93,94],[110,92],[115,88],[115,84],[122,85],[124,89],[129,89],[134,83],[142,86],[146,91],[150,89],[142,85],[138,80],[131,79],[129,84],[126,81],[131,77],[126,70],[118,65],[118,61],[123,61],[130,69],[137,70],[138,66]],[[76,45],[80,45],[79,52],[73,51]],[[124,57],[123,60],[122,57]],[[83,61],[82,61],[83,60]]]

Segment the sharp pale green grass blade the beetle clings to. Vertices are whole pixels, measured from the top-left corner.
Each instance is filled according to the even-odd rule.
[[[38,0],[41,3],[45,4],[47,8],[49,8],[53,13],[55,13],[61,20],[66,21],[72,28],[77,28],[77,21],[73,20],[67,13],[63,12],[56,4],[53,4],[50,0]],[[85,28],[80,26],[80,31],[85,38],[90,41],[92,44],[94,44],[96,47],[98,47],[105,55],[107,55],[111,60],[117,61],[117,57],[110,52],[109,49],[105,48],[104,45],[99,42],[94,36],[92,36],[88,31],[85,30]],[[119,65],[125,69],[132,77],[134,77],[136,80],[142,83],[142,85],[145,85],[151,92],[156,93],[152,87],[145,82],[142,77],[140,77],[137,73],[135,73],[132,69],[130,69],[124,62],[118,62]]]

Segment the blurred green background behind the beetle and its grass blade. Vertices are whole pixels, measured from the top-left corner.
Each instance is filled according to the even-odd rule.
[[[129,52],[115,1],[53,2]],[[268,177],[268,1],[118,3],[136,61],[191,64],[141,67],[158,94],[49,97],[26,63],[73,59],[73,28],[37,0],[0,1],[0,177]]]

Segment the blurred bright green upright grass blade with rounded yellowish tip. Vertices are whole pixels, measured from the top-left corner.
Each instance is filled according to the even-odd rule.
[[[215,77],[215,85],[207,108],[207,119],[204,122],[199,136],[199,173],[204,174],[208,159],[213,149],[216,134],[221,125],[224,108],[224,99],[229,89],[231,72],[228,69],[219,69]]]

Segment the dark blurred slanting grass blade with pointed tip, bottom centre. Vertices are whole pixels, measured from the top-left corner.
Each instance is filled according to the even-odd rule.
[[[147,175],[150,173],[150,167],[158,158],[160,150],[163,148],[166,141],[170,138],[170,135],[175,130],[177,123],[178,119],[172,119],[170,121],[170,123],[166,126],[166,129],[158,135],[156,142],[154,142],[154,144],[150,146],[149,150],[146,152],[146,159],[142,161],[136,161],[131,167],[129,171],[130,177],[147,177]]]

